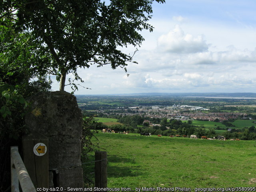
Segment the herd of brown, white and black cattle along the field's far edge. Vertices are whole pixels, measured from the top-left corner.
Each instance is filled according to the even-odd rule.
[[[124,132],[117,132],[111,129],[103,129],[102,130],[103,133],[120,133],[120,134],[129,134],[129,131],[124,131]],[[140,136],[151,136],[151,133],[140,133]],[[158,137],[161,137],[162,135],[159,134],[157,135]],[[170,137],[187,137],[186,135],[170,135]],[[198,139],[198,137],[196,135],[190,135],[190,139]],[[201,136],[201,139],[207,139],[207,140],[223,140],[226,141],[226,138],[224,136],[218,136],[218,137],[213,137],[213,138],[207,138],[206,136]],[[230,141],[240,141],[240,139],[230,139]]]

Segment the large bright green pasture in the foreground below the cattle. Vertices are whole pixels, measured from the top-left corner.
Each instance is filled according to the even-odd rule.
[[[108,152],[108,187],[255,187],[256,142],[96,134]],[[102,150],[102,149],[101,149]],[[93,155],[93,154],[92,154]],[[93,161],[90,156],[88,161]],[[85,164],[92,173],[93,165]],[[93,180],[93,174],[89,174]]]

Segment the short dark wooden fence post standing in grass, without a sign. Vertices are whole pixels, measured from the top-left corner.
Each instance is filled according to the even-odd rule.
[[[107,152],[95,152],[95,187],[106,188],[107,181]]]

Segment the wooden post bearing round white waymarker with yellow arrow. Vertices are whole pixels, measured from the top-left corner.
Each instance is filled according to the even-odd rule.
[[[35,188],[48,188],[48,138],[37,132],[22,137],[23,161]]]

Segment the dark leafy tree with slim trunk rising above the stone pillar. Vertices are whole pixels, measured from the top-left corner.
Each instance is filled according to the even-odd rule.
[[[112,69],[121,67],[127,72],[127,63],[135,61],[120,47],[140,46],[144,38],[139,31],[152,32],[147,22],[152,17],[153,1],[111,0],[106,5],[100,0],[3,0],[0,22],[28,36],[35,60],[45,58],[45,62],[28,65],[56,75],[60,90],[64,90],[66,74],[82,81],[78,68],[110,64]],[[70,79],[69,84],[77,89]]]

